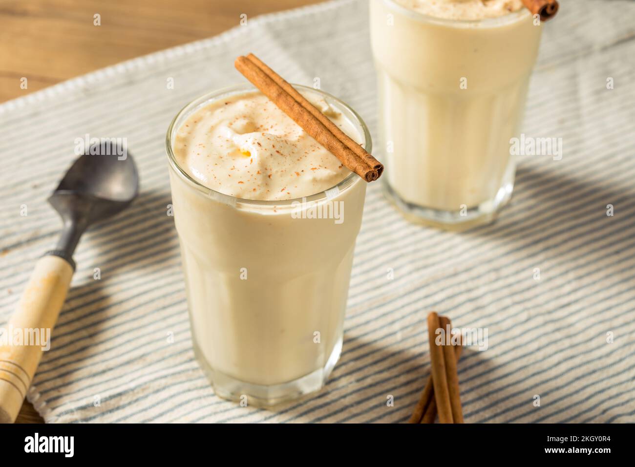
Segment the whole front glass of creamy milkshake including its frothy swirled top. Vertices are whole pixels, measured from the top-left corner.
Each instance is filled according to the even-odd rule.
[[[297,88],[370,151],[354,111]],[[218,395],[271,405],[340,355],[366,182],[252,89],[189,104],[166,147],[199,363]]]

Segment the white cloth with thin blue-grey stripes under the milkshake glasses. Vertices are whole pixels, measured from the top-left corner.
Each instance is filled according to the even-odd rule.
[[[488,349],[466,349],[459,364],[466,422],[635,421],[629,0],[562,1],[545,25],[523,132],[561,138],[563,154],[518,157],[514,198],[497,222],[465,233],[414,226],[370,184],[344,352],[323,391],[276,410],[215,396],[192,353],[166,215],[168,123],[192,98],[243,82],[233,61],[253,51],[290,81],[319,77],[377,135],[368,41],[368,2],[332,1],[0,105],[0,326],[55,242],[60,221],[46,198],[75,157],[75,139],[125,137],[142,181],[138,200],[86,233],[76,252],[29,392],[47,422],[403,422],[429,371],[432,309],[488,330]]]

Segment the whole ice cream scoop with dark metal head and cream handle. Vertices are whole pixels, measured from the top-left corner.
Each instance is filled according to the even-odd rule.
[[[104,140],[76,159],[48,198],[64,226],[55,250],[46,252],[37,261],[18,308],[9,320],[8,335],[0,341],[2,344],[14,341],[17,332],[32,338],[30,342],[0,346],[0,423],[15,421],[42,351],[50,345],[50,332],[75,270],[72,255],[79,238],[91,224],[130,205],[138,191],[137,167],[132,156],[121,144]]]

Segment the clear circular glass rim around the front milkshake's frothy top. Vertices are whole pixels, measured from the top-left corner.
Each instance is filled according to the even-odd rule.
[[[297,85],[293,83],[291,83],[291,85],[298,90],[307,90],[307,91],[318,93],[322,95],[323,97],[327,97],[335,101],[335,104],[337,104],[338,109],[345,109],[347,112],[351,112],[351,115],[356,119],[355,121],[352,121],[351,123],[359,127],[358,129],[361,130],[360,133],[364,139],[361,146],[364,149],[366,149],[366,151],[368,152],[372,151],[373,144],[372,144],[372,140],[370,136],[370,131],[368,130],[366,123],[364,123],[364,120],[361,118],[361,116],[359,116],[358,112],[352,109],[352,107],[350,107],[344,101],[338,99],[337,97],[323,90],[315,89],[310,86]],[[194,187],[195,189],[197,189],[198,191],[200,191],[201,193],[205,194],[208,197],[210,196],[211,193],[213,193],[215,198],[218,198],[218,200],[224,200],[225,202],[227,202],[227,204],[231,204],[231,205],[236,205],[237,203],[240,203],[240,205],[280,207],[285,205],[293,205],[294,203],[309,203],[309,202],[319,202],[324,200],[332,200],[333,196],[326,194],[327,191],[331,191],[337,188],[338,193],[342,193],[342,191],[349,189],[349,187],[356,184],[357,182],[365,182],[365,180],[359,177],[357,173],[351,172],[349,173],[349,175],[344,177],[344,179],[338,182],[337,184],[331,187],[328,187],[327,189],[324,189],[323,191],[319,191],[318,193],[311,194],[309,196],[300,196],[299,198],[293,198],[290,200],[250,200],[248,198],[238,198],[237,196],[232,196],[231,194],[221,193],[220,191],[216,191],[215,189],[204,186],[198,180],[190,177],[189,173],[185,172],[185,170],[183,170],[183,168],[180,165],[178,165],[177,159],[172,149],[172,134],[173,132],[175,132],[175,129],[178,130],[178,128],[175,128],[178,119],[180,119],[185,114],[187,114],[187,116],[191,115],[194,111],[203,107],[204,104],[209,104],[213,100],[217,100],[218,98],[225,96],[229,93],[237,93],[240,91],[245,91],[245,92],[258,91],[258,89],[255,86],[251,85],[251,83],[244,83],[239,85],[225,86],[224,88],[211,91],[209,93],[206,93],[204,95],[201,95],[195,98],[194,100],[186,104],[184,107],[182,107],[182,109],[180,109],[180,111],[177,112],[176,116],[170,122],[170,126],[168,126],[168,132],[166,133],[166,139],[165,139],[165,149],[166,149],[166,153],[168,154],[168,161],[170,163],[171,169],[175,173],[177,173],[177,175],[182,180],[184,180],[187,184]],[[347,118],[349,118],[349,116],[347,116]]]

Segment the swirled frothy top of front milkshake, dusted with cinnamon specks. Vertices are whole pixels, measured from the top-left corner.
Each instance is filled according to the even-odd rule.
[[[358,140],[363,138],[356,121],[340,112],[337,102],[319,91],[307,90],[306,94],[317,109],[331,109],[328,116],[337,126]],[[177,158],[194,179],[210,189],[252,200],[290,200],[287,195],[311,196],[347,175],[328,149],[258,91],[234,93],[192,117],[185,122],[189,128],[180,130],[181,156]],[[194,119],[199,123],[192,125]],[[239,175],[232,181],[234,173]],[[295,174],[293,192],[280,187],[286,173]]]

